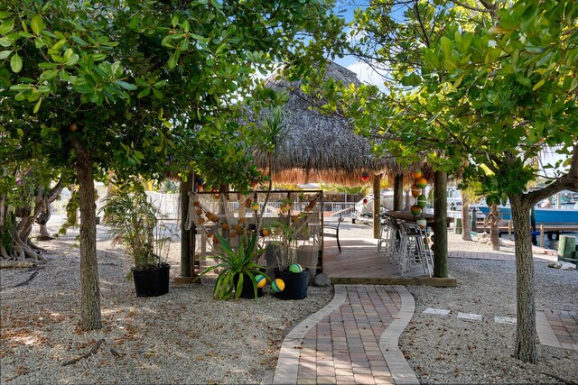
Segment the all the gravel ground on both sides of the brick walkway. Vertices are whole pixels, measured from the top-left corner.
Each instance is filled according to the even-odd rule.
[[[368,232],[367,227],[358,229]],[[46,265],[0,270],[3,384],[268,382],[284,335],[332,298],[331,289],[310,288],[308,298],[300,301],[266,294],[257,304],[247,299],[217,302],[209,278],[203,285],[172,286],[163,297],[136,298],[133,282],[125,279],[130,261],[101,240],[103,328],[85,333],[78,326],[78,244],[67,236],[39,245],[49,251]],[[450,246],[489,250],[452,234]],[[173,250],[170,262],[176,275],[178,245]],[[495,324],[493,316],[516,316],[513,261],[450,259],[450,271],[458,288],[408,287],[416,309],[400,346],[422,383],[578,383],[578,352],[538,344],[538,365],[512,358],[516,326]],[[576,293],[577,271],[536,262],[537,309],[575,311]],[[427,307],[452,312],[423,314]],[[463,321],[458,311],[484,319]],[[96,353],[63,366],[100,340],[104,343]]]

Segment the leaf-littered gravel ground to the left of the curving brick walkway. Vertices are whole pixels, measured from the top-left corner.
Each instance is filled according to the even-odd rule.
[[[46,265],[0,270],[2,384],[259,383],[272,379],[288,330],[332,298],[331,288],[310,288],[299,301],[266,293],[257,304],[217,302],[209,278],[171,286],[162,297],[136,298],[125,278],[130,261],[100,242],[103,328],[84,333],[73,238],[38,244],[50,251]],[[172,275],[180,271],[177,252],[170,257]],[[63,366],[101,339],[97,353]]]

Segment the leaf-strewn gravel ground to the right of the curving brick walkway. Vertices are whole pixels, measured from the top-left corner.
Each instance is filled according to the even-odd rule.
[[[488,245],[461,241],[452,248],[486,250]],[[511,252],[510,243],[502,248]],[[409,286],[415,315],[401,335],[400,348],[422,383],[578,383],[578,352],[537,344],[539,363],[513,358],[516,325],[494,316],[516,316],[516,264],[450,258],[454,289]],[[578,271],[555,270],[535,262],[536,310],[578,310]],[[451,310],[448,316],[424,314],[428,307]],[[458,312],[483,316],[465,321]]]

